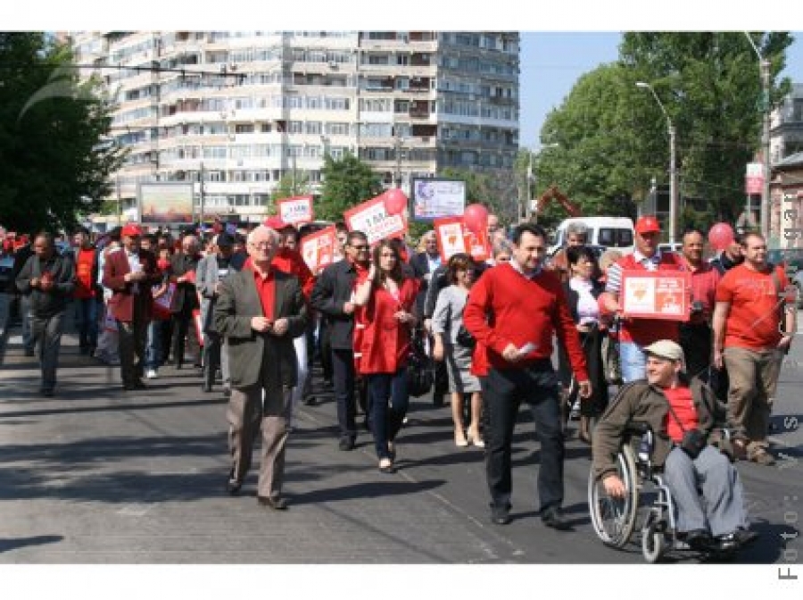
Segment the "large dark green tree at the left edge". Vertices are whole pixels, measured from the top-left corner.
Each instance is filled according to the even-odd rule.
[[[6,227],[71,229],[97,212],[122,160],[103,140],[112,106],[79,82],[70,49],[43,33],[0,32],[0,215]]]

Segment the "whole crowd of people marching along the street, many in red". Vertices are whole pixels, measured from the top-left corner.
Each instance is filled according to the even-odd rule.
[[[555,529],[570,527],[562,512],[567,421],[578,420],[578,438],[592,446],[594,469],[617,496],[621,481],[610,466],[617,436],[626,419],[655,404],[666,469],[683,498],[681,529],[698,545],[751,541],[732,461],[774,463],[769,419],[797,327],[784,300],[786,274],[766,262],[766,240],[731,231],[709,260],[706,234],[688,229],[679,252],[662,252],[658,221],[644,216],[631,254],[598,256],[575,223],[567,247],[548,258],[537,225],[506,231],[489,215],[484,233],[489,252],[480,262],[444,257],[434,231],[414,251],[397,238],[370,245],[364,232],[338,223],[333,262],[312,271],[299,252],[300,231],[277,217],[211,235],[173,237],[128,224],[93,239],[79,229],[63,252],[43,232],[12,248],[12,292],[44,396],[57,390],[68,312],[80,353],[119,366],[125,391],[145,389],[166,365],[198,370],[203,394],[219,389],[228,397],[228,493],[243,487],[261,430],[258,499],[269,508],[287,507],[286,440],[299,404],[315,402],[315,358],[334,392],[338,448],[356,446],[365,413],[385,474],[396,471],[410,396],[434,388],[443,403],[448,394],[454,444],[483,449],[491,519],[500,525],[510,521],[521,404],[541,443],[542,521]],[[625,275],[639,271],[689,274],[685,318],[625,312]],[[688,430],[708,434],[715,425],[732,431],[730,460],[669,451]],[[687,484],[714,481],[715,471],[727,477],[704,486],[707,502],[699,504],[697,487]],[[730,516],[712,512],[716,495],[731,498],[716,508]]]

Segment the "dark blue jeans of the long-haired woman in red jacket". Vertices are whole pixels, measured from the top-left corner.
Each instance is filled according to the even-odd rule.
[[[371,373],[366,377],[368,394],[371,395],[371,433],[374,434],[374,446],[380,460],[390,458],[387,443],[392,442],[399,429],[402,429],[404,415],[410,404],[407,370],[402,368],[395,373]]]

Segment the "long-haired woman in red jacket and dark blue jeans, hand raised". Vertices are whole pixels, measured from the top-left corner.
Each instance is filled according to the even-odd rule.
[[[410,403],[406,366],[417,293],[418,281],[404,276],[399,252],[386,240],[377,244],[368,279],[354,293],[354,304],[364,307],[364,328],[355,351],[360,354],[360,375],[368,379],[371,432],[383,473],[395,472],[393,443]]]

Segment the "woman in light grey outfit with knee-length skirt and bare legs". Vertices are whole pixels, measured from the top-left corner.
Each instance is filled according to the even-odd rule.
[[[432,315],[432,332],[435,335],[433,358],[446,361],[451,392],[451,418],[454,421],[454,443],[483,448],[479,421],[482,396],[479,379],[469,371],[475,340],[463,327],[463,309],[468,290],[474,279],[473,265],[468,254],[454,254],[446,267],[446,279],[451,284],[443,289]],[[471,422],[466,431],[463,423],[464,396],[471,396]]]

